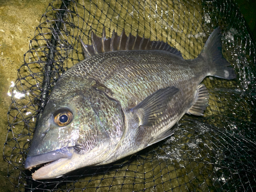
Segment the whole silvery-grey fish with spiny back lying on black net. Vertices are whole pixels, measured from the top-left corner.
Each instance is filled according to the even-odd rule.
[[[216,28],[195,59],[163,41],[91,33],[85,59],[57,80],[38,120],[25,168],[35,180],[113,163],[173,134],[184,114],[202,116],[207,76],[234,79]]]

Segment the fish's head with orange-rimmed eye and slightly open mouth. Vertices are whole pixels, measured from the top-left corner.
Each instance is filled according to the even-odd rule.
[[[62,80],[63,81],[63,80]],[[121,105],[84,79],[58,83],[38,120],[25,168],[52,179],[108,158],[124,130]]]

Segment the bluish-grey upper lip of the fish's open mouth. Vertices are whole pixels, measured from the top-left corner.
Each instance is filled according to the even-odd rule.
[[[74,153],[74,147],[63,147],[45,154],[27,157],[25,169],[32,169],[45,163],[53,163],[60,159],[71,159]]]

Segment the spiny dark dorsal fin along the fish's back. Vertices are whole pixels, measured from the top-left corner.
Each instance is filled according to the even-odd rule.
[[[170,47],[167,42],[151,41],[150,39],[140,37],[138,34],[133,36],[131,33],[126,36],[124,29],[120,36],[113,30],[112,37],[106,38],[105,28],[103,27],[102,37],[97,36],[94,32],[91,33],[92,45],[86,45],[79,37],[84,57],[88,58],[99,53],[119,50],[161,50],[167,51],[174,55],[182,57],[180,51]]]

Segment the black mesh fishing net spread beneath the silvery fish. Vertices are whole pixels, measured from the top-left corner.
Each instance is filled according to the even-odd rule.
[[[163,40],[184,59],[202,50],[220,26],[223,55],[234,80],[207,77],[204,116],[184,115],[175,134],[109,165],[35,181],[24,169],[36,120],[58,77],[84,59],[79,37],[91,31]],[[255,45],[231,0],[53,1],[42,15],[12,91],[4,159],[14,191],[253,191],[256,190]],[[34,170],[33,170],[34,171]]]

